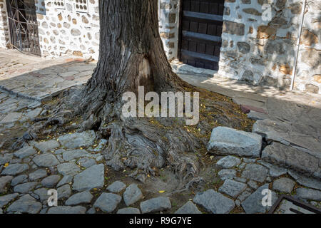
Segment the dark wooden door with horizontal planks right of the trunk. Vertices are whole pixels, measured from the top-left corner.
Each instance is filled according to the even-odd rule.
[[[218,70],[224,0],[182,0],[181,3],[180,61]]]

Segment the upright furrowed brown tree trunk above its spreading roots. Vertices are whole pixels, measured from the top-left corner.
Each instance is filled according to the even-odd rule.
[[[100,56],[87,90],[120,95],[138,86],[167,90],[172,72],[158,31],[156,0],[100,0]]]

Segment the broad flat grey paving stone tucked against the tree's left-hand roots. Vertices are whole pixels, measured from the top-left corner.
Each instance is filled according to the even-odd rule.
[[[82,133],[73,133],[71,135],[61,135],[58,140],[66,148],[76,149],[78,147],[88,147],[93,145],[96,136],[93,130]]]

